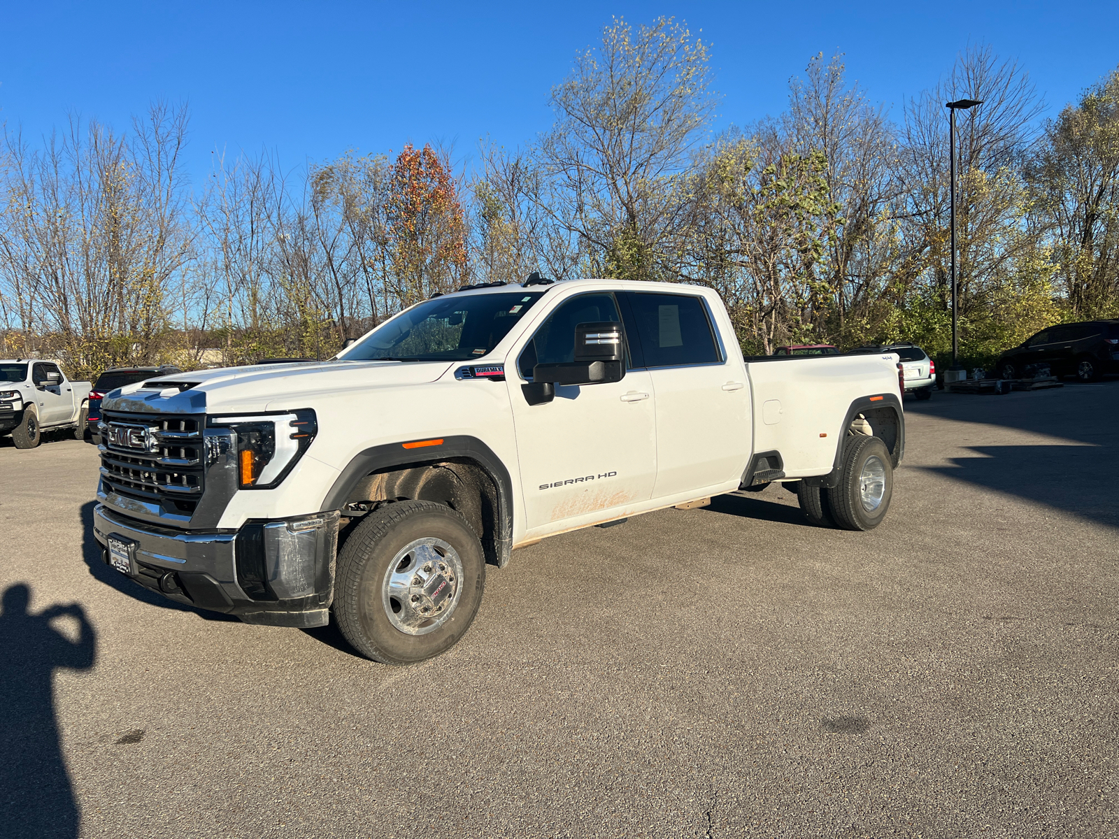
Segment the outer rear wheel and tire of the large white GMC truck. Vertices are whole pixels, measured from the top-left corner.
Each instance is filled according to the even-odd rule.
[[[878,437],[847,437],[839,486],[828,493],[836,524],[845,530],[873,530],[890,509],[893,488],[886,444]]]

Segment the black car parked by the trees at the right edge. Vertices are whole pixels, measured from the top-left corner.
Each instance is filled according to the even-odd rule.
[[[1017,379],[1032,374],[1034,365],[1049,365],[1056,376],[1091,381],[1104,373],[1119,373],[1119,320],[1062,323],[1043,329],[1021,347],[998,357],[1000,378]]]

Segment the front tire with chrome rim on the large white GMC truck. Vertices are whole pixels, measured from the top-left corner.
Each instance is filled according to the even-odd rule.
[[[481,543],[445,505],[399,501],[370,512],[338,555],[335,615],[346,640],[385,664],[453,647],[486,585]]]

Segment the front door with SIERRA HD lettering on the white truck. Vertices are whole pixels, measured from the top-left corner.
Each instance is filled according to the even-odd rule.
[[[528,530],[543,536],[624,516],[652,497],[656,412],[647,370],[621,381],[557,385],[555,398],[529,405],[521,385],[537,364],[568,362],[579,323],[618,321],[609,292],[562,302],[506,362]],[[516,371],[514,371],[516,370]]]

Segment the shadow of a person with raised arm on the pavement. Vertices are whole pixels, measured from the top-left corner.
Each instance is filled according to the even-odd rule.
[[[53,676],[88,670],[97,639],[77,603],[28,611],[31,590],[8,587],[0,611],[0,835],[28,839],[77,837],[78,805],[58,742]],[[77,623],[72,641],[51,622]]]

